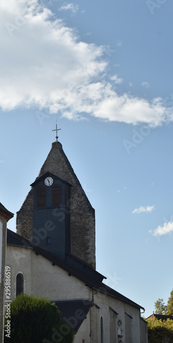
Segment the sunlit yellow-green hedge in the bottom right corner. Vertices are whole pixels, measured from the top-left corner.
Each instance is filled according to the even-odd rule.
[[[173,320],[146,319],[148,322],[148,343],[173,342]]]

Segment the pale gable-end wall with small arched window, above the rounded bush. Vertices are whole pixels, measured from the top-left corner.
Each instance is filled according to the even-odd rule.
[[[50,300],[89,299],[90,289],[82,281],[30,248],[8,246],[7,264],[12,269],[12,298],[16,296],[16,275],[23,274],[24,291],[34,296],[45,296]]]

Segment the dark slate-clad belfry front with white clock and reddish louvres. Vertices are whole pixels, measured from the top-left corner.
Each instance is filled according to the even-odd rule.
[[[46,173],[33,184],[34,244],[65,260],[70,245],[70,186]]]

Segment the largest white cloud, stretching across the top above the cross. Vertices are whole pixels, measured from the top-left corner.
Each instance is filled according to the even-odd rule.
[[[118,95],[116,79],[107,81],[105,48],[80,41],[38,0],[1,0],[0,45],[2,110],[37,106],[69,119],[93,115],[149,126],[173,120],[161,98]]]

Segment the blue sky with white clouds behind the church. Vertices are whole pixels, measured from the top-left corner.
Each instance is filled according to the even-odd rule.
[[[95,208],[97,270],[146,316],[173,287],[172,10],[170,0],[0,4],[0,201],[19,211],[57,119]]]

